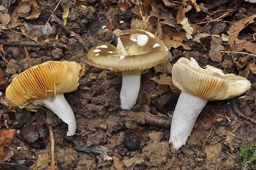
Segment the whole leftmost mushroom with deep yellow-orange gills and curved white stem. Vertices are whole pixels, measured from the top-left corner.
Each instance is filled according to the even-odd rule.
[[[76,90],[84,73],[85,66],[79,63],[48,61],[15,77],[6,89],[6,97],[21,109],[51,109],[68,124],[67,135],[71,136],[76,130],[75,116],[64,93]]]

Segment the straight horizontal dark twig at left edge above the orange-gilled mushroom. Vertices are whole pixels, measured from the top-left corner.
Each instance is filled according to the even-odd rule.
[[[40,47],[40,48],[60,48],[67,49],[66,44],[52,42],[33,42],[33,41],[15,41],[15,40],[0,40],[0,44],[4,46],[21,46],[21,47]]]

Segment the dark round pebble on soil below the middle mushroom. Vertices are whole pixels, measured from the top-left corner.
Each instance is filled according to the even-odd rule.
[[[124,139],[124,146],[129,151],[137,150],[140,146],[139,137],[134,134],[128,134]]]

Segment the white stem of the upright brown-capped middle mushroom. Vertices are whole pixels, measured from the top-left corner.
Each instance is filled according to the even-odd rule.
[[[131,110],[139,94],[141,70],[122,71],[122,88],[120,92],[121,109]]]

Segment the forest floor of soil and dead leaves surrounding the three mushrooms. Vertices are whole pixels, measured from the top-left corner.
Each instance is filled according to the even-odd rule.
[[[0,145],[9,149],[3,152],[0,147],[8,161],[2,160],[19,164],[22,164],[20,160],[26,160],[25,166],[30,166],[46,150],[51,153],[45,116],[53,127],[59,170],[249,169],[237,152],[256,135],[254,3],[244,0],[62,0],[58,5],[59,1],[17,0],[8,9],[7,1],[0,2],[3,58],[0,61],[3,71],[0,73],[3,93],[0,125],[1,130],[16,131],[10,137],[11,143],[5,141],[5,146]],[[68,17],[64,15],[67,13]],[[63,15],[66,27],[61,27]],[[28,31],[35,26],[44,27],[46,23],[48,29],[42,33]],[[121,72],[91,67],[86,60],[88,49],[98,44],[117,45],[115,29],[147,30],[162,39],[172,54],[168,61],[141,75],[139,97],[131,111],[120,110]],[[38,42],[30,41],[24,34]],[[193,57],[202,68],[211,65],[225,73],[243,76],[250,81],[251,88],[234,99],[209,101],[185,146],[176,150],[168,141],[171,115],[180,93],[170,80],[172,65],[180,57]],[[239,64],[242,57],[246,61]],[[49,60],[76,61],[86,68],[78,89],[65,94],[76,118],[73,136],[66,135],[68,125],[51,110],[45,107],[37,112],[22,110],[5,97],[5,80],[9,85],[19,73]],[[21,137],[24,129],[32,129],[33,133],[40,133],[40,137],[37,136],[35,142],[25,141],[35,136],[29,132]],[[135,151],[124,146],[129,134],[140,139]],[[81,151],[81,144],[93,152]],[[108,155],[97,151],[99,148]],[[11,169],[11,166],[5,165],[2,169]]]

